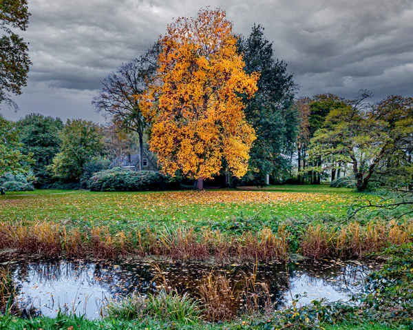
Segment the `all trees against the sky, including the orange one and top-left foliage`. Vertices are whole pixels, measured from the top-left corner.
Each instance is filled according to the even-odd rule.
[[[21,23],[11,21],[21,28],[24,8]],[[199,189],[219,176],[229,186],[346,176],[359,191],[384,183],[412,188],[412,98],[370,104],[367,90],[354,99],[299,97],[262,25],[237,35],[222,10],[176,19],[102,84],[92,105],[107,118],[105,127],[37,114],[15,124],[1,118],[0,172],[32,167],[39,182],[80,181],[93,159],[125,152],[121,146],[136,136],[140,169],[146,148],[162,172],[198,181]],[[10,92],[4,83],[1,90]]]

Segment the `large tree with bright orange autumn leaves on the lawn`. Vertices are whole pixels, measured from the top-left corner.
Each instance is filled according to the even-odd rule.
[[[253,96],[258,75],[244,71],[232,23],[222,10],[202,9],[168,25],[159,42],[156,81],[141,107],[153,121],[149,145],[163,172],[179,169],[198,179],[198,189],[223,165],[244,176],[255,132],[242,95]]]

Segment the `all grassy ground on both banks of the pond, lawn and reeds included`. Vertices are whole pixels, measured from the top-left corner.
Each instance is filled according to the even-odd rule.
[[[79,316],[23,320],[0,316],[0,330],[410,329],[403,324],[406,324],[405,313],[411,313],[412,306],[412,296],[405,293],[411,291],[413,279],[413,222],[374,217],[348,220],[347,207],[359,196],[363,195],[326,185],[206,192],[8,193],[0,198],[0,250],[49,256],[120,258],[134,254],[266,261],[286,259],[297,251],[311,258],[324,258],[359,256],[393,246],[395,251],[391,254],[397,257],[386,268],[390,271],[385,269],[371,279],[370,300],[362,301],[365,309],[347,305],[328,307],[316,302],[304,309],[271,316],[260,314],[256,318],[248,315],[244,320],[231,318],[229,323],[222,318],[224,322],[217,323],[205,316],[198,319],[201,312],[195,308],[189,324],[182,321],[187,314],[176,317],[179,308],[164,313],[166,307],[161,302],[164,300],[159,300],[159,308],[151,307],[141,314],[136,314],[132,305],[133,319],[120,317],[118,311],[103,320],[84,320]],[[383,278],[392,280],[383,282]],[[387,287],[388,283],[394,285]],[[384,300],[383,290],[388,293]],[[401,296],[403,301],[398,303],[403,317],[397,311],[395,318],[400,322],[394,323],[388,309],[394,308],[394,302]],[[338,325],[330,324],[335,322],[331,322],[332,318],[337,318]],[[328,322],[324,324],[323,320]]]

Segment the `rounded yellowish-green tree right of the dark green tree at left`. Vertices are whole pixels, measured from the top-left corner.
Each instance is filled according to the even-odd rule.
[[[103,152],[101,128],[92,121],[69,119],[61,132],[61,140],[61,152],[53,159],[52,172],[64,181],[78,181],[85,165]]]

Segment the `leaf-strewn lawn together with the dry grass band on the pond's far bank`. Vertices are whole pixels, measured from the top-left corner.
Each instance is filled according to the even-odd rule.
[[[204,192],[39,191],[0,198],[0,249],[180,260],[351,257],[410,242],[413,222],[352,219],[363,194],[321,186]],[[375,198],[374,196],[369,196]]]

